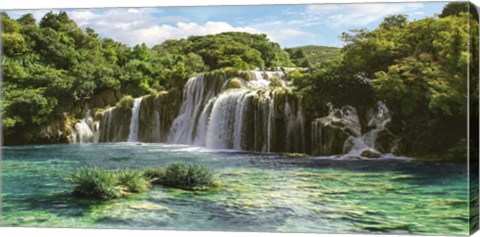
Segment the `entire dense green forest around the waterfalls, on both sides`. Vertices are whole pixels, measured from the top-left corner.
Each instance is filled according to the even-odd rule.
[[[282,49],[264,34],[240,32],[129,47],[81,29],[65,12],[47,13],[38,24],[32,14],[2,13],[3,142],[67,142],[66,133],[52,130],[67,131],[87,103],[106,108],[160,92],[181,100],[197,73],[299,67],[286,80],[307,121],[331,106],[362,114],[383,101],[392,113],[389,136],[400,140],[397,153],[463,159],[469,73],[471,100],[478,101],[478,15],[464,5],[415,21],[388,16],[374,30],[343,33],[342,49]]]

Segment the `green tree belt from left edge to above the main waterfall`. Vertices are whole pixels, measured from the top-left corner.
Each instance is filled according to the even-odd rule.
[[[288,54],[261,34],[228,32],[129,47],[81,29],[66,12],[49,12],[38,23],[32,14],[0,17],[6,145],[43,142],[41,127],[66,114],[81,118],[78,108],[105,91],[139,97],[182,91],[189,77],[213,69],[292,65]],[[126,108],[126,102],[120,105]]]

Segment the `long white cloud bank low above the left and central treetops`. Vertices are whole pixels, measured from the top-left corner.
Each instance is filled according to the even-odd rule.
[[[265,33],[282,44],[282,41],[308,34],[297,29],[284,27],[282,21],[262,22],[251,26],[234,26],[223,21],[197,23],[184,16],[152,14],[152,9],[111,9],[102,12],[72,10],[68,12],[80,27],[90,27],[103,37],[135,45],[160,44],[168,39],[186,38],[190,35],[208,35],[222,32]],[[175,23],[173,23],[175,22]]]

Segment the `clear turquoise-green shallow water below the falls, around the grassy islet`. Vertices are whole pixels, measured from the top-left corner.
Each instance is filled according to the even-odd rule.
[[[2,226],[465,235],[463,164],[325,160],[130,143],[3,148]],[[69,195],[82,166],[197,162],[221,187],[154,187],[112,201]]]

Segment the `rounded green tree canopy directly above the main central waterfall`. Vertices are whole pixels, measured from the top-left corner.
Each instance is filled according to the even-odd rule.
[[[225,67],[238,69],[291,66],[288,54],[280,45],[270,42],[264,34],[226,32],[187,39],[168,40],[156,45],[158,54],[192,55],[198,69],[215,70]],[[202,63],[203,62],[203,63]]]

